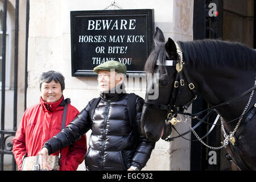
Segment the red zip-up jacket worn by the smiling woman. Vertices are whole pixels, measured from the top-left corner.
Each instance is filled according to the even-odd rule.
[[[60,132],[63,117],[64,98],[54,103],[44,102],[28,107],[23,114],[22,121],[13,139],[13,154],[20,170],[22,157],[38,155],[43,144]],[[66,123],[67,126],[79,111],[68,104]],[[60,171],[74,171],[84,160],[86,154],[86,135],[82,136],[71,146],[61,150]],[[55,152],[52,155],[59,155]]]

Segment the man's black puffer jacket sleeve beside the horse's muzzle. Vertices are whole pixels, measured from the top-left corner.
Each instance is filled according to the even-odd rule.
[[[148,159],[150,159],[150,155],[152,150],[155,147],[155,142],[150,142],[141,132],[141,113],[142,113],[142,106],[144,100],[141,97],[138,97],[136,102],[136,123],[137,123],[137,138],[138,144],[133,156],[133,162],[131,166],[138,167],[140,170],[146,165]]]

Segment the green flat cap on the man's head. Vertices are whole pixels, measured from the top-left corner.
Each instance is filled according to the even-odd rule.
[[[98,71],[100,70],[110,71],[110,69],[115,69],[115,72],[123,73],[126,75],[126,66],[119,61],[106,61],[105,63],[97,65],[97,67],[95,67],[93,71],[95,73],[98,73]]]

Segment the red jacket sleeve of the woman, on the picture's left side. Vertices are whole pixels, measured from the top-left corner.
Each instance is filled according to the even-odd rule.
[[[26,111],[23,114],[22,121],[20,122],[19,128],[16,131],[15,137],[13,138],[13,155],[15,158],[15,161],[18,165],[18,170],[20,170],[22,165],[22,158],[27,153],[26,150],[26,135],[25,135],[25,129],[26,129]]]

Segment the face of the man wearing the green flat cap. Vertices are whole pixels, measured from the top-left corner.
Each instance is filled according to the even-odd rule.
[[[98,85],[100,86],[100,92],[106,92],[110,89],[115,88],[118,84],[121,84],[123,81],[123,76],[115,71],[98,71]]]

